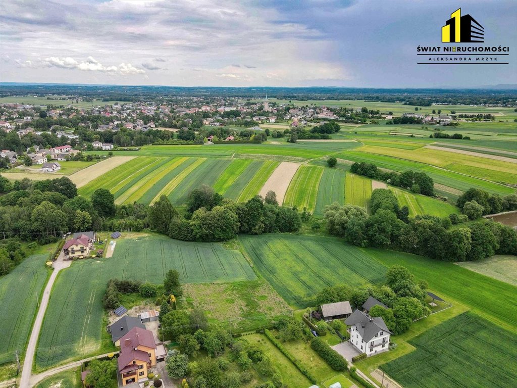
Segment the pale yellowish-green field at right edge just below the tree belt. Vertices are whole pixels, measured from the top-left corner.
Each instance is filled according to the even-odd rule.
[[[517,286],[517,257],[510,255],[492,256],[478,261],[456,263],[470,271],[492,277]]]

